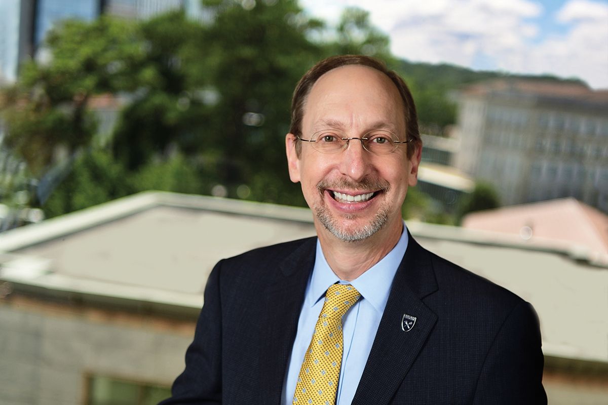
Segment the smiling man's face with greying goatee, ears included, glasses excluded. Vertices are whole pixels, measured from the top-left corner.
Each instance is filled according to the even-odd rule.
[[[322,129],[338,129],[349,138],[384,129],[407,140],[403,103],[395,84],[365,66],[325,73],[306,100],[302,138],[310,139]],[[401,231],[401,205],[407,186],[416,185],[420,151],[408,159],[407,145],[399,145],[394,152],[379,156],[365,151],[361,141],[351,140],[342,152],[322,154],[302,142],[298,156],[294,140],[294,135],[287,135],[289,175],[293,182],[302,183],[317,233],[354,241],[381,230]]]

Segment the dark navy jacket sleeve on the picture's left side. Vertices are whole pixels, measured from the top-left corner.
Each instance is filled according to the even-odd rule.
[[[222,261],[215,265],[207,280],[194,341],[186,351],[185,370],[173,383],[171,398],[159,405],[210,405],[222,402],[221,265]]]

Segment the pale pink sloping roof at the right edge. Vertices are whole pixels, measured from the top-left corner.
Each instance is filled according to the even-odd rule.
[[[608,253],[608,216],[572,197],[470,213],[462,226],[510,234],[529,226],[532,239],[565,240]]]

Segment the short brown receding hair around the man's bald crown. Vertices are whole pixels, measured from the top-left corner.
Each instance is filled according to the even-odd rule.
[[[418,117],[416,116],[416,106],[410,89],[407,87],[406,81],[403,80],[398,73],[393,70],[388,70],[384,62],[371,56],[364,55],[338,55],[325,58],[315,66],[311,67],[308,72],[295,86],[294,97],[291,99],[291,128],[289,132],[296,136],[302,136],[302,118],[304,116],[304,106],[310,90],[314,84],[325,73],[336,67],[347,65],[361,65],[371,67],[379,72],[384,73],[389,79],[395,83],[401,100],[403,100],[404,113],[406,118],[406,137],[410,140],[407,144],[407,158],[411,158],[416,148],[422,146],[420,131],[418,130]],[[296,138],[295,150],[300,155],[302,142]]]

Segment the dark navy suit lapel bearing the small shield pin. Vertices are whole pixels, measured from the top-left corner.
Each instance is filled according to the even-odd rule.
[[[437,322],[422,301],[437,288],[427,251],[409,235],[353,405],[389,403]],[[409,332],[402,328],[404,315],[416,318]]]

